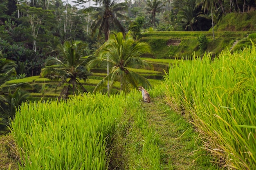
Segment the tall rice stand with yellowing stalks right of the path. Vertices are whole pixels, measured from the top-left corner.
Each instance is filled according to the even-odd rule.
[[[213,61],[174,62],[165,76],[166,101],[188,117],[205,150],[220,165],[253,170],[256,164],[256,50],[223,51]]]

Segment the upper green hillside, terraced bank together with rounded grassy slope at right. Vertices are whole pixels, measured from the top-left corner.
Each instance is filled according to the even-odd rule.
[[[209,31],[147,31],[142,33],[140,41],[148,42],[151,53],[145,57],[152,58],[191,58],[193,55],[202,56],[205,52],[218,55],[222,50],[240,50],[256,42],[256,12],[229,13],[225,15],[218,25],[214,27],[215,39],[212,29]],[[198,38],[205,35],[204,42]],[[236,45],[235,41],[239,41]],[[200,49],[200,46],[205,49]],[[233,46],[235,45],[235,46]]]

